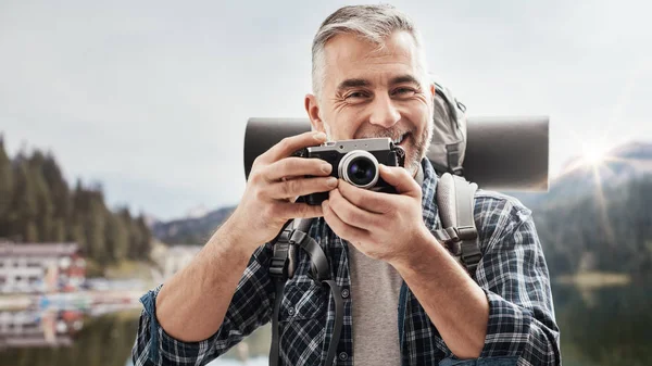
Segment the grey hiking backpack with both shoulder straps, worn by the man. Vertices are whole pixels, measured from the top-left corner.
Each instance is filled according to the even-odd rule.
[[[441,175],[437,185],[437,206],[442,229],[435,231],[449,252],[461,263],[472,277],[481,258],[478,232],[474,219],[475,192],[478,188],[462,177],[462,163],[466,149],[466,108],[451,91],[434,81],[434,136],[427,157],[435,171]],[[330,278],[326,254],[308,232],[313,219],[289,220],[272,241],[273,256],[269,276],[275,288],[274,315],[272,318],[272,344],[269,365],[279,364],[278,315],[286,281],[294,274],[297,251],[303,249],[311,258],[311,277],[330,288],[335,300],[335,325],[328,346],[326,366],[333,365],[343,324],[343,300],[339,286]]]

